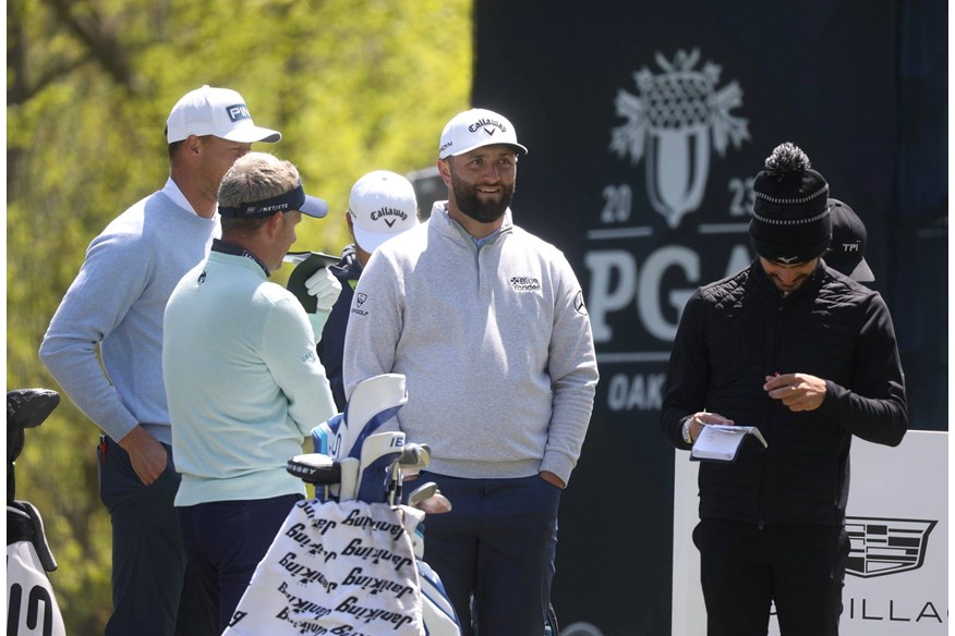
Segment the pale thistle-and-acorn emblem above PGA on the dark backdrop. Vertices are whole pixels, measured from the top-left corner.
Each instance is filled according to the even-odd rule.
[[[656,53],[663,70],[633,73],[639,95],[624,89],[614,101],[627,123],[613,130],[611,150],[637,166],[646,156],[646,193],[672,229],[703,200],[710,172],[710,144],[723,157],[732,143],[748,140],[747,120],[729,113],[742,106],[734,81],[717,89],[723,69],[706,62],[694,70],[700,51],[677,51],[673,62]]]

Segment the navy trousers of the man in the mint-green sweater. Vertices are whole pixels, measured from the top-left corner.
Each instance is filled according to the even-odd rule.
[[[179,507],[190,568],[200,583],[207,621],[229,625],[255,567],[301,494],[214,501]]]

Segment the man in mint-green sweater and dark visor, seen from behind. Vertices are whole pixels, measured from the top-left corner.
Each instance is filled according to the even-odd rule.
[[[229,626],[255,566],[305,497],[286,463],[337,413],[315,355],[325,318],[309,316],[268,281],[303,215],[327,213],[291,162],[266,152],[242,157],[219,188],[222,238],[166,307],[162,377],[182,475],[176,506],[216,634]]]

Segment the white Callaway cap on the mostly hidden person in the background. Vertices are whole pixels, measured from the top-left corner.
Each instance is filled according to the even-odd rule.
[[[352,186],[348,213],[355,242],[371,254],[388,238],[418,224],[414,186],[395,172],[368,172]]]

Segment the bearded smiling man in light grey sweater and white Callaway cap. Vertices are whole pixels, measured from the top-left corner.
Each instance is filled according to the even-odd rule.
[[[553,245],[515,225],[527,154],[503,115],[452,118],[437,167],[448,200],[378,247],[351,307],[344,386],[404,374],[389,426],[432,449],[452,502],[428,517],[425,559],[471,633],[544,631],[560,491],[593,408],[596,358],[583,294]]]

